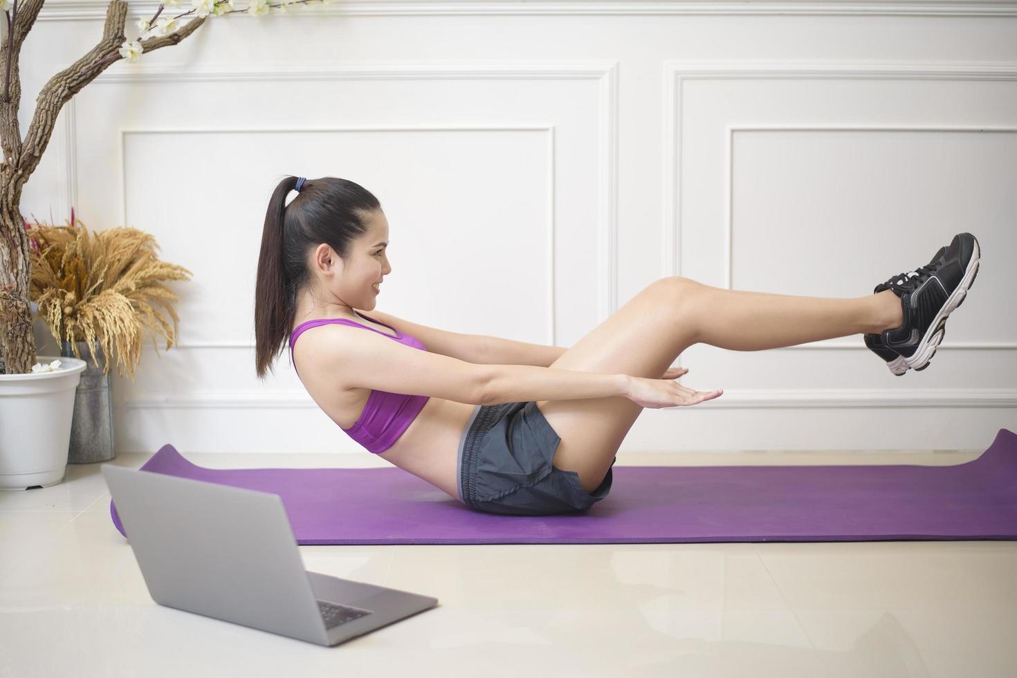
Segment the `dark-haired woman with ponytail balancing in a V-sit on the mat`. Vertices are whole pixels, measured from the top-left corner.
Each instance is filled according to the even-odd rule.
[[[520,515],[586,510],[607,496],[618,446],[644,408],[718,397],[677,383],[687,369],[668,369],[694,344],[762,351],[863,333],[894,374],[924,369],[979,254],[974,236],[959,234],[929,264],[851,299],[666,278],[564,350],[375,310],[392,271],[387,245],[380,203],[363,187],[284,179],[261,236],[257,375],[288,342],[311,397],[368,451],[470,508]]]

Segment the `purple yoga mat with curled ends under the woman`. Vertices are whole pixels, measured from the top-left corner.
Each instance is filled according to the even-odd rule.
[[[205,469],[167,444],[141,470],[278,494],[301,545],[1017,539],[1007,429],[947,467],[615,465],[610,494],[573,515],[475,511],[397,468]]]

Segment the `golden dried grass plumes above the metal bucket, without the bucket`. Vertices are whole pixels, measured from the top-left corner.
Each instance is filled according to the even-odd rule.
[[[157,353],[155,331],[166,337],[167,350],[173,346],[179,318],[170,301],[177,296],[160,281],[187,280],[191,271],[160,261],[155,237],[127,227],[89,234],[84,224],[74,220],[73,210],[68,226],[36,224],[29,235],[29,297],[54,338],[69,342],[75,358],[80,358],[76,342],[89,347],[98,342],[106,357],[104,373],[109,374],[109,357],[115,347],[117,373],[133,381],[145,326],[153,330]],[[169,311],[173,326],[153,303]],[[100,367],[95,353],[94,364]]]

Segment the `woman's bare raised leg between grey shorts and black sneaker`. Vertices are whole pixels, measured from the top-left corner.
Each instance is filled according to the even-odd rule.
[[[686,278],[665,278],[633,297],[551,367],[656,378],[694,344],[761,351],[877,332],[900,323],[900,299],[889,291],[824,299],[724,290]],[[587,491],[600,485],[643,411],[626,397],[537,400],[537,407],[561,437],[554,466],[579,474]]]

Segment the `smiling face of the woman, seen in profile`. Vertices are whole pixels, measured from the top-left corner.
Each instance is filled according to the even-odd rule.
[[[387,258],[388,221],[377,209],[364,218],[364,226],[367,232],[350,245],[346,259],[321,243],[314,250],[314,263],[323,275],[322,285],[340,306],[370,310],[376,304],[378,284],[392,270]]]

